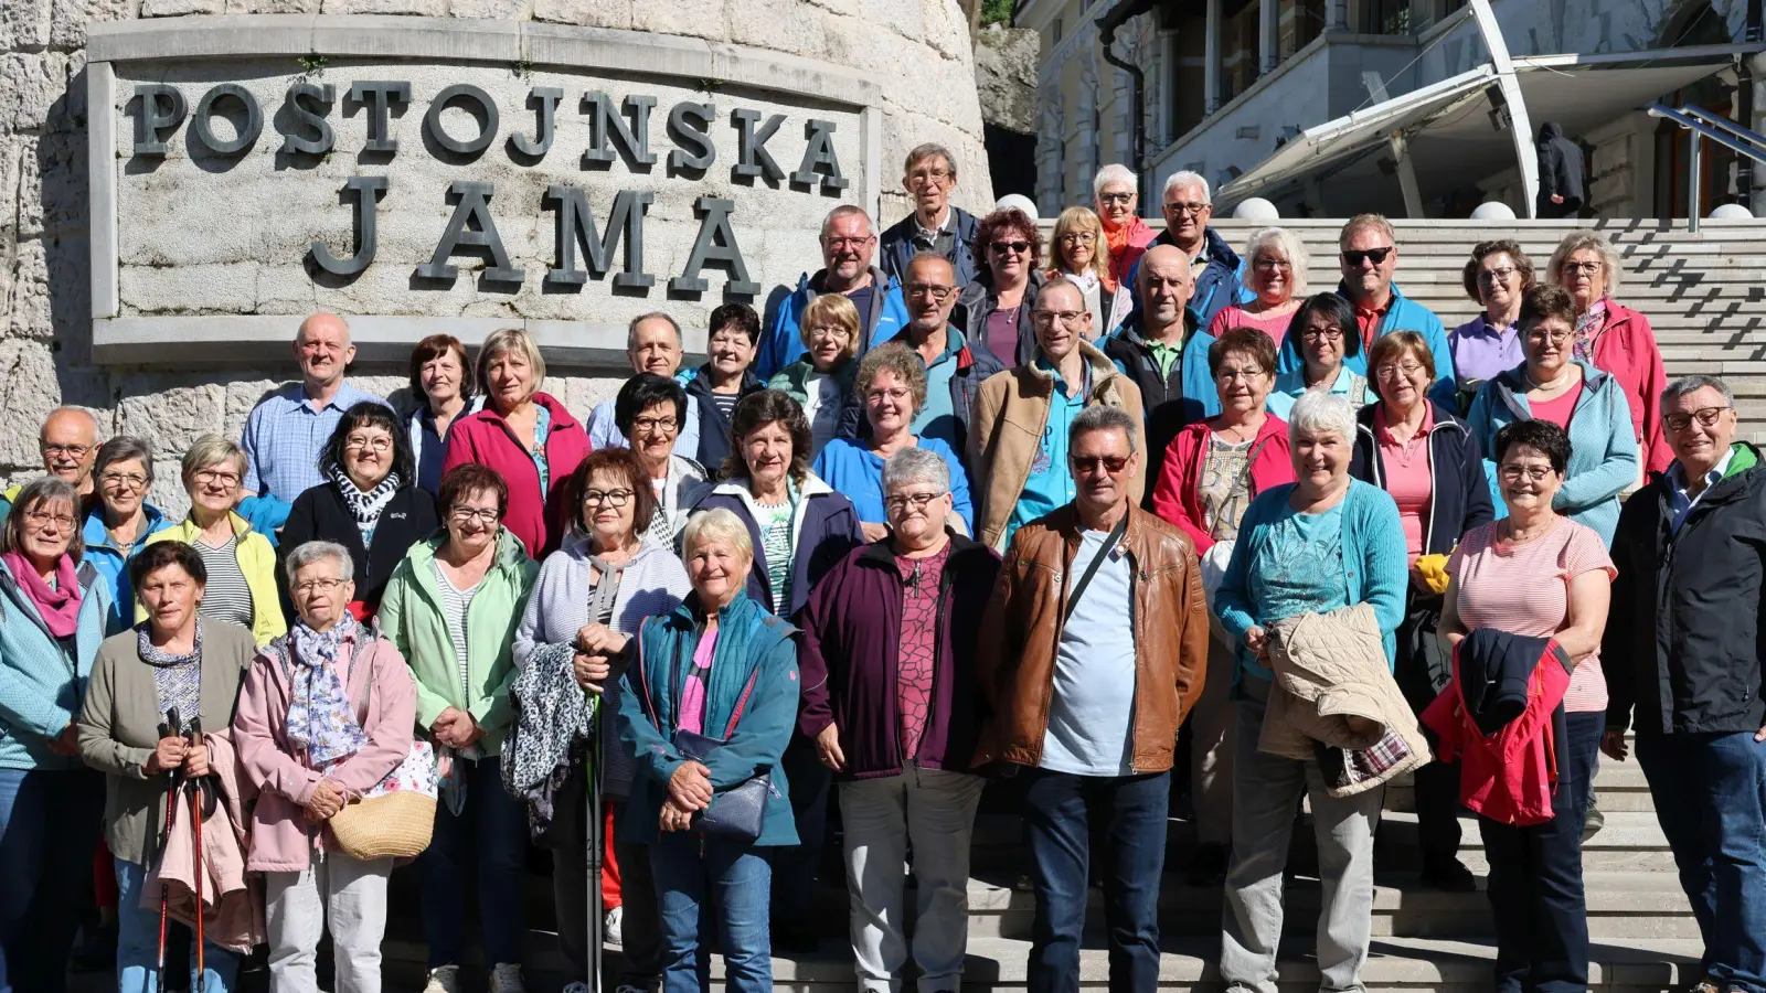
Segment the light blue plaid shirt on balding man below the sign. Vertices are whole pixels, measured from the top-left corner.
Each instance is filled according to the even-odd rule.
[[[265,398],[245,419],[245,436],[240,438],[240,447],[245,449],[245,493],[293,504],[295,496],[325,482],[320,452],[343,413],[364,399],[387,403],[348,382],[337,387],[337,396],[323,410],[313,406],[302,383],[290,383]]]

